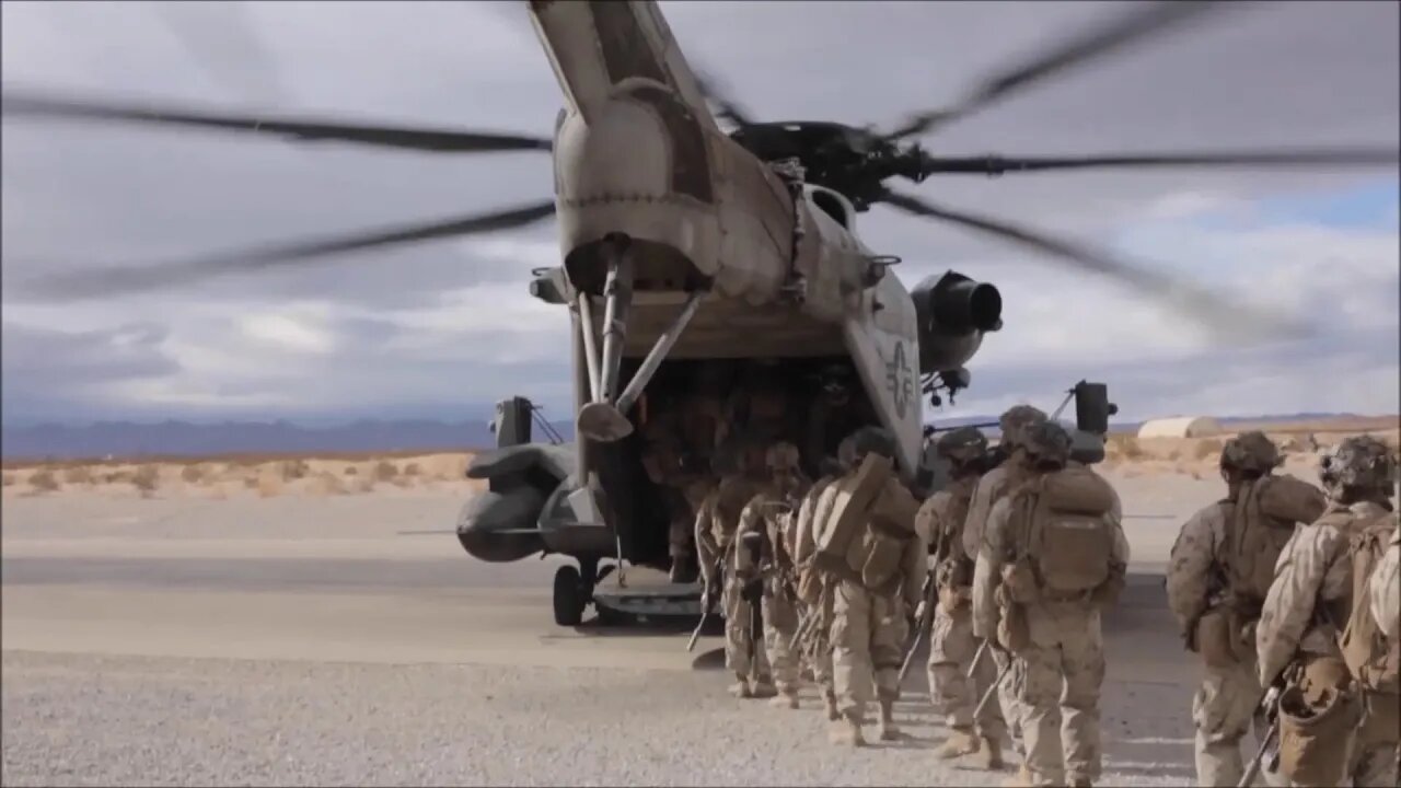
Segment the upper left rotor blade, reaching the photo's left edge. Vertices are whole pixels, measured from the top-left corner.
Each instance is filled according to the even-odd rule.
[[[453,129],[409,129],[366,126],[325,121],[293,121],[226,115],[206,111],[177,109],[170,105],[115,104],[73,98],[49,98],[7,91],[3,97],[6,116],[60,118],[73,121],[116,121],[167,126],[195,126],[227,132],[282,135],[297,140],[336,140],[439,153],[479,153],[502,150],[551,150],[544,137],[462,132]]]

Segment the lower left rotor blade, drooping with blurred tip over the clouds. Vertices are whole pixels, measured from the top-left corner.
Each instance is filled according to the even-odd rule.
[[[496,213],[380,230],[356,237],[322,238],[300,244],[262,247],[156,265],[119,266],[42,276],[22,286],[21,292],[45,299],[69,300],[106,296],[118,292],[151,290],[227,273],[245,273],[284,266],[336,252],[509,230],[539,222],[553,213],[555,203],[551,201]]]

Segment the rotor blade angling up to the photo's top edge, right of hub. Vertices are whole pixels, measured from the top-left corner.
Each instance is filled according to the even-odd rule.
[[[1094,28],[1061,42],[1035,57],[985,79],[976,90],[947,109],[920,112],[904,126],[885,136],[887,140],[923,135],[934,126],[960,119],[1006,98],[1048,77],[1059,76],[1075,66],[1108,55],[1157,32],[1166,32],[1206,11],[1220,10],[1219,0],[1161,0],[1135,3],[1135,8],[1118,18],[1100,22]]]

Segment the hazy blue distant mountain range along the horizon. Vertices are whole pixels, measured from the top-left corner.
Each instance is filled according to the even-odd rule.
[[[1220,423],[1297,422],[1359,418],[1351,414],[1292,414],[1278,416],[1219,418]],[[998,416],[972,415],[939,419],[940,428],[995,423]],[[1142,422],[1115,422],[1112,432],[1133,432]],[[572,440],[570,422],[551,422]],[[991,432],[996,432],[995,429]],[[545,440],[539,426],[535,440]],[[496,442],[485,421],[443,422],[430,419],[357,421],[338,426],[301,426],[277,422],[158,423],[97,422],[83,426],[6,426],[0,430],[0,456],[6,460],[74,460],[91,457],[305,454],[314,451],[429,451],[469,450]]]

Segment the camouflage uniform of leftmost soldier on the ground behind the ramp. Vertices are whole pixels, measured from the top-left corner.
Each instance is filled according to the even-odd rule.
[[[752,449],[747,446],[745,449]],[[720,604],[724,610],[724,665],[736,676],[731,691],[738,697],[772,697],[773,680],[768,655],[762,644],[750,642],[751,609],[743,599],[744,583],[738,578],[740,543],[736,530],[740,513],[764,484],[762,463],[755,463],[751,450],[741,450],[740,471],[720,478],[696,513],[696,552],[700,557],[702,582],[706,602],[710,589],[723,582]],[[723,559],[723,580],[715,576]],[[750,656],[752,646],[752,659]]]

